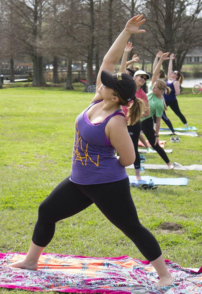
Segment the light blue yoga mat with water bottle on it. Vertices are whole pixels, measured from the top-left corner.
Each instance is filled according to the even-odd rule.
[[[186,186],[188,184],[187,178],[155,178],[149,175],[143,175],[141,176],[141,181],[135,181],[134,175],[129,175],[128,177],[131,184],[134,183],[139,185],[149,184],[150,179],[152,179],[154,185]]]

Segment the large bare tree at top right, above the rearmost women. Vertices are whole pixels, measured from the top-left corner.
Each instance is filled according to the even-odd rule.
[[[145,0],[147,35],[143,46],[155,56],[156,51],[174,52],[173,69],[181,70],[187,52],[202,42],[201,0]],[[168,62],[163,63],[167,72]]]

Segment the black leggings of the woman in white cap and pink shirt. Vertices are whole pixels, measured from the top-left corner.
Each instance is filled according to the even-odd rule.
[[[134,167],[135,169],[140,169],[140,154],[138,152],[138,141],[139,141],[139,136],[140,136],[140,131],[141,131],[141,122],[137,122],[134,125],[128,125],[128,134],[131,137],[131,140],[134,145],[135,149],[135,162],[134,162]]]

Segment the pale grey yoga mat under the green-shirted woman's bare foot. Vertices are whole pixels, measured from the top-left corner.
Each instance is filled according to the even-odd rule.
[[[131,164],[130,166],[126,166],[126,168],[134,169],[134,164]],[[147,164],[144,163],[145,169],[168,169],[167,164]],[[181,165],[177,162],[174,162],[174,169],[180,169],[180,170],[202,170],[202,165],[200,164],[192,164],[192,165]]]

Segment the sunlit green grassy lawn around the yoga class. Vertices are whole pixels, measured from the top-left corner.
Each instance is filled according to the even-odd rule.
[[[74,121],[93,94],[62,88],[19,87],[0,90],[0,252],[26,252],[37,219],[39,203],[71,171]],[[184,91],[186,93],[186,91]],[[178,97],[190,126],[198,128],[197,138],[181,136],[180,144],[166,140],[171,162],[202,164],[201,97]],[[174,127],[183,124],[171,109],[167,112]],[[166,125],[162,122],[162,127]],[[146,155],[147,163],[163,164],[157,154]],[[127,170],[129,175],[133,169]],[[202,174],[199,171],[146,170],[145,175],[187,177],[188,186],[159,186],[156,190],[131,188],[140,221],[157,238],[164,257],[184,267],[202,265]],[[158,229],[162,222],[176,222],[181,231]],[[86,256],[129,255],[145,259],[133,243],[114,227],[93,204],[56,225],[45,252]],[[0,289],[0,293],[27,293]]]

